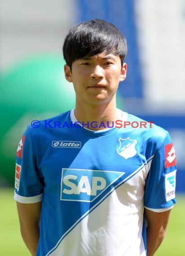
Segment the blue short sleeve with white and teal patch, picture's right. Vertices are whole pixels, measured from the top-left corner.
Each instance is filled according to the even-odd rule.
[[[144,206],[154,212],[163,212],[176,203],[176,152],[167,133],[154,154],[145,180]]]

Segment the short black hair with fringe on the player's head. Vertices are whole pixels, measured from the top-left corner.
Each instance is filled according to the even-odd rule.
[[[116,26],[101,19],[80,22],[73,26],[63,44],[63,56],[70,70],[75,60],[104,51],[106,54],[118,55],[123,66],[127,54],[126,39]]]

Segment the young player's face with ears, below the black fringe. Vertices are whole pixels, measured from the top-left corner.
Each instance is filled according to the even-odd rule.
[[[73,62],[72,72],[67,65],[64,70],[74,85],[76,102],[99,105],[115,97],[119,82],[126,77],[127,64],[122,67],[119,56],[100,53]]]

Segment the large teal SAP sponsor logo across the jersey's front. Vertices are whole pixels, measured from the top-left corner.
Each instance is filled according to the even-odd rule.
[[[93,202],[125,172],[62,168],[61,200]]]

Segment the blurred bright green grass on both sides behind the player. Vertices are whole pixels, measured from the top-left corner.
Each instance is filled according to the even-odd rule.
[[[0,256],[30,256],[19,231],[13,193],[13,189],[0,190]],[[155,256],[185,256],[185,194],[177,195],[166,238]]]

